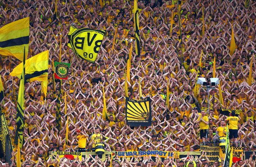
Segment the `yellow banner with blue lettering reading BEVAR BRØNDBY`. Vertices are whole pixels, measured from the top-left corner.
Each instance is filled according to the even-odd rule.
[[[141,156],[141,157],[155,157],[159,156],[161,158],[179,158],[179,152],[170,152],[170,151],[158,151],[158,150],[152,150],[152,151],[112,151],[112,158],[115,159],[115,157],[123,158],[123,157],[133,157],[133,156]]]

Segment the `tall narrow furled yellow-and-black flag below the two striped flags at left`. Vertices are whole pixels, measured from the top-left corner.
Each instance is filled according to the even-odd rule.
[[[23,63],[21,63],[22,66],[22,73],[20,77],[20,87],[19,87],[19,94],[18,94],[18,100],[17,100],[17,114],[16,114],[16,133],[14,138],[14,143],[16,145],[20,146],[20,149],[23,147],[23,131],[24,131],[24,93],[25,93],[25,85],[24,85],[24,77],[25,77],[25,63],[26,63],[26,57],[25,57],[25,47],[24,47],[24,56],[23,56]],[[20,142],[18,142],[18,139]]]

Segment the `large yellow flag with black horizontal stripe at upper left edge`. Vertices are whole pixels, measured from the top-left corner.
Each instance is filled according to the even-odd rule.
[[[23,50],[28,55],[29,17],[6,24],[0,28],[0,54],[14,56],[23,61]]]

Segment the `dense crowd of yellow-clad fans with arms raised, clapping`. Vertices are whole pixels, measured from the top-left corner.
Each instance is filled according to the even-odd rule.
[[[59,56],[62,62],[71,62],[68,79],[63,80],[61,85],[62,130],[56,129],[54,94],[58,93],[59,83],[53,90],[52,67],[48,70],[47,95],[42,94],[40,82],[25,85],[25,126],[36,127],[24,130],[22,167],[108,167],[110,157],[103,162],[91,155],[82,161],[76,159],[73,162],[49,157],[51,151],[92,149],[95,140],[98,140],[97,136],[93,136],[95,133],[101,133],[99,140],[105,143],[107,151],[199,151],[200,145],[226,136],[226,133],[222,134],[224,130],[218,130],[219,127],[225,127],[227,122],[224,121],[227,116],[221,115],[219,109],[242,109],[238,123],[238,143],[232,144],[244,147],[245,151],[256,150],[255,1],[181,0],[178,8],[176,0],[138,0],[140,56],[135,53],[133,0],[57,0],[57,17],[54,17],[55,3],[55,0],[2,0],[0,4],[0,27],[30,17],[28,58],[48,49],[49,64],[52,64],[52,60],[58,61]],[[106,30],[94,64],[78,58],[67,46],[70,26]],[[230,54],[232,26],[236,42],[234,54]],[[117,33],[114,39],[115,30]],[[149,127],[129,127],[125,122],[124,73],[131,45],[129,97],[139,99],[141,82],[142,96],[151,98],[152,125]],[[194,91],[194,87],[198,68],[200,77],[206,78],[208,82],[212,78],[214,58],[220,85],[210,90],[208,112],[206,89],[200,86]],[[1,56],[0,61],[5,95],[2,112],[6,115],[14,145],[19,79],[9,74],[20,61],[11,56]],[[252,84],[248,82],[250,63]],[[102,117],[102,87],[105,88],[108,119]],[[219,98],[220,93],[223,103]],[[168,105],[165,104],[167,98]],[[202,114],[198,112],[200,110]],[[209,133],[200,134],[201,117],[204,115],[206,119],[203,122]],[[70,117],[69,144],[64,145],[67,116]],[[253,157],[256,155],[250,159],[242,158],[234,166],[255,167]],[[189,161],[189,167],[192,167],[193,160],[189,155],[184,159],[164,160],[135,156],[131,159],[113,159],[112,166],[183,167]],[[197,167],[210,167],[204,153],[196,157],[195,161]],[[1,163],[2,167],[15,167],[16,149],[11,164],[4,157]],[[213,166],[222,165],[223,159],[216,161]]]

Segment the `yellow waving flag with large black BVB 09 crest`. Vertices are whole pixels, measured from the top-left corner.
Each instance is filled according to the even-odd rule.
[[[94,63],[105,32],[105,30],[93,30],[89,28],[79,29],[71,26],[68,35],[68,46],[79,58]]]

